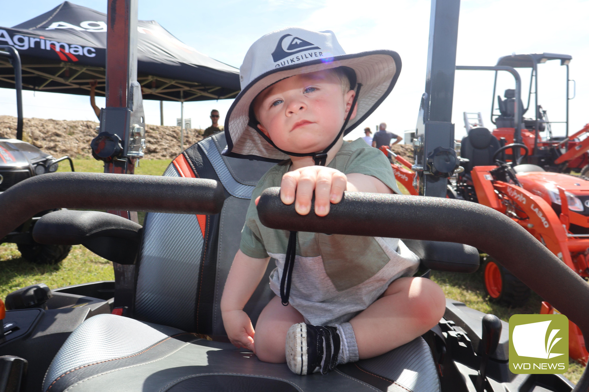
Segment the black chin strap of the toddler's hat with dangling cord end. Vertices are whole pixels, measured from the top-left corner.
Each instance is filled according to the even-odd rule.
[[[356,95],[354,96],[354,99],[352,100],[352,106],[350,108],[350,111],[348,112],[348,116],[346,116],[345,122],[343,122],[342,129],[339,130],[339,133],[337,133],[337,137],[333,140],[333,142],[329,146],[327,146],[327,148],[325,150],[323,150],[322,152],[316,152],[316,153],[312,153],[312,154],[294,154],[294,153],[290,153],[290,152],[284,152],[282,150],[280,150],[280,151],[286,153],[287,155],[312,156],[313,160],[315,160],[315,165],[325,166],[326,162],[327,162],[327,152],[333,146],[335,146],[335,143],[337,143],[337,140],[339,140],[340,136],[342,136],[343,131],[346,129],[346,125],[348,125],[350,117],[352,116],[352,112],[354,111],[354,108],[356,106],[356,102],[358,102],[358,95],[360,93],[361,86],[362,86],[362,84],[358,83],[358,87],[356,88]],[[256,129],[257,129],[257,127],[256,127]],[[265,135],[263,135],[263,136],[265,136]],[[272,145],[273,145],[273,143],[272,143]],[[274,147],[276,147],[276,146],[274,146]],[[286,247],[286,257],[284,259],[284,268],[282,270],[282,279],[280,279],[280,300],[282,301],[282,304],[284,306],[287,306],[289,304],[290,284],[292,282],[292,274],[293,274],[293,268],[294,268],[294,257],[296,256],[296,243],[297,242],[298,242],[297,232],[290,232],[289,244]],[[339,352],[339,350],[338,350],[338,352]]]

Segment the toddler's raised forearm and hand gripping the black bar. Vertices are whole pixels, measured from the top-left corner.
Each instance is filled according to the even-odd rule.
[[[393,193],[391,188],[373,176],[360,173],[350,173],[346,176],[330,167],[306,166],[288,172],[282,177],[280,199],[286,205],[295,202],[296,212],[307,215],[311,209],[311,199],[315,191],[315,213],[325,216],[329,213],[330,203],[339,203],[345,190]]]

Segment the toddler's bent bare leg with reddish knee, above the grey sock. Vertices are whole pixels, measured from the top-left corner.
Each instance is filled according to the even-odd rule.
[[[395,280],[378,300],[350,320],[360,359],[384,354],[422,335],[444,316],[445,308],[444,292],[431,280]]]

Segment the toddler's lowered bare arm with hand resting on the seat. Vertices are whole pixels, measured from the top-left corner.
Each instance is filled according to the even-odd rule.
[[[221,317],[227,337],[234,346],[254,350],[254,328],[243,311],[262,280],[270,257],[254,259],[237,251],[221,296]]]

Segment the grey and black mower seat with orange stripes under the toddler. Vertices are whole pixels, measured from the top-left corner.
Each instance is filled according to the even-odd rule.
[[[297,376],[286,364],[264,363],[228,342],[221,293],[253,187],[273,164],[221,156],[225,146],[223,134],[210,136],[164,173],[219,180],[226,190],[221,213],[148,213],[130,317],[102,314],[84,321],[55,356],[42,390],[439,391],[435,361],[422,337],[325,376]],[[271,260],[267,274],[273,268]],[[273,296],[262,280],[244,308],[254,326]]]

